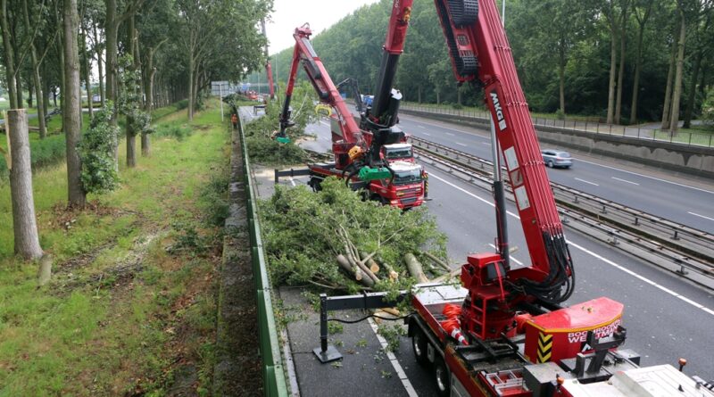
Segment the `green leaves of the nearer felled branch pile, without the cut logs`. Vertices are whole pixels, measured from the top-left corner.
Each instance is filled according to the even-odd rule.
[[[402,284],[380,282],[378,289],[409,287],[404,275],[403,255],[430,251],[445,256],[445,236],[426,209],[403,212],[376,202],[361,201],[360,194],[344,181],[328,178],[322,190],[312,193],[305,186],[276,186],[270,200],[261,203],[263,244],[275,285],[358,285],[338,270],[336,255],[345,252],[339,237],[345,229],[353,244],[363,252],[377,252],[379,261],[391,265],[406,279]],[[386,277],[382,277],[385,279]]]

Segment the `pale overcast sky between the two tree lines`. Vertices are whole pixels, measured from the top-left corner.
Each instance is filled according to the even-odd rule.
[[[295,45],[293,32],[305,22],[309,22],[314,34],[318,34],[362,5],[377,2],[378,0],[275,0],[272,21],[265,26],[270,41],[270,55]]]

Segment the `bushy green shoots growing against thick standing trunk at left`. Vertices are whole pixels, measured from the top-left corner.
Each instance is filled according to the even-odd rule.
[[[89,129],[79,141],[82,186],[87,193],[102,194],[116,189],[119,176],[114,169],[114,146],[119,128],[112,125],[112,101],[95,111]]]

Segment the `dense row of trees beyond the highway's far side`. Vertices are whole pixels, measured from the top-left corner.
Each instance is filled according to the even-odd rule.
[[[392,3],[361,7],[314,37],[333,79],[359,79],[371,92]],[[396,86],[410,101],[477,103],[472,87],[455,85],[433,2],[415,0],[411,15]],[[672,129],[680,118],[689,126],[714,82],[712,16],[711,0],[506,1],[506,31],[534,111],[661,120]],[[291,56],[273,56],[279,79]]]

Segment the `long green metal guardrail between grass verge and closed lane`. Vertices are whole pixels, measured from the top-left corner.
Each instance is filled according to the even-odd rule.
[[[238,133],[243,152],[243,170],[245,178],[245,206],[248,214],[248,234],[251,244],[251,265],[255,282],[255,303],[258,307],[258,330],[261,341],[263,364],[263,395],[270,397],[288,396],[285,373],[283,372],[278,328],[275,325],[272,297],[270,296],[270,277],[266,268],[262,250],[261,226],[258,220],[258,208],[255,203],[255,186],[251,178],[250,161],[245,147],[243,120],[238,118]]]

